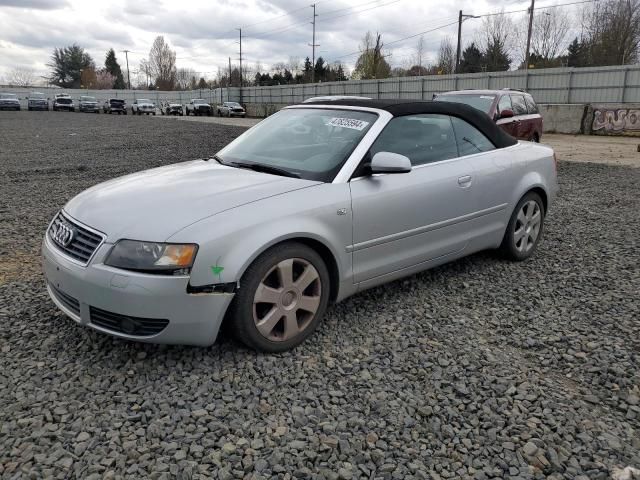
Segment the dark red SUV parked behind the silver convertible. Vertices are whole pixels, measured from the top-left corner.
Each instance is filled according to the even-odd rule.
[[[520,140],[539,142],[542,115],[533,97],[520,90],[460,90],[440,93],[440,102],[466,103],[487,113],[509,135]]]

